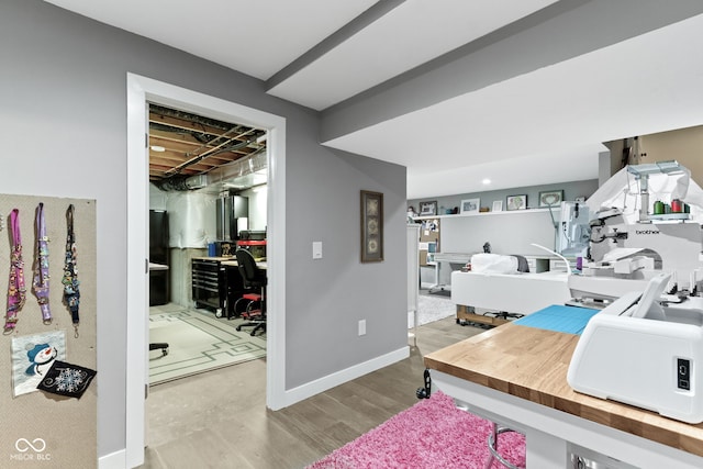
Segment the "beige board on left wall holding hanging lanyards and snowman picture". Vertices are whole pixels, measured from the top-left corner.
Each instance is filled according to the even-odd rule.
[[[32,293],[35,263],[35,214],[44,204],[48,236],[49,306],[52,323],[44,324]],[[69,204],[75,206],[74,231],[80,281],[80,325],[75,333],[71,315],[63,303],[62,278],[66,256]],[[97,456],[97,401],[100,370],[97,369],[97,245],[96,201],[53,197],[0,194],[0,291],[2,324],[7,311],[12,234],[10,212],[19,209],[22,235],[26,302],[16,327],[0,337],[0,467],[2,468],[94,468]],[[37,334],[65,334],[65,360],[98,370],[80,399],[34,391],[14,397],[12,339]],[[20,342],[20,340],[15,340]],[[16,367],[15,367],[16,368]]]

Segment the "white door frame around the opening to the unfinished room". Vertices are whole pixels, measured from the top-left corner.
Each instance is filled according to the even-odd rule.
[[[144,464],[148,391],[148,150],[149,102],[213,119],[266,129],[267,360],[266,405],[286,406],[286,119],[231,101],[127,72],[127,467]]]

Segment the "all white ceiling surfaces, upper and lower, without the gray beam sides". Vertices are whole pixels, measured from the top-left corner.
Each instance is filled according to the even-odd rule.
[[[399,80],[416,77],[436,57],[472,41],[478,44],[487,34],[555,3],[47,1],[265,80],[270,94],[342,112],[345,104],[362,101],[367,90],[388,96],[393,87],[400,88]],[[614,40],[349,127],[323,143],[406,166],[409,199],[595,179],[598,153],[605,150],[601,142],[703,123],[701,31],[703,15],[698,15]],[[560,37],[554,41],[556,49]],[[483,186],[484,178],[492,183]]]

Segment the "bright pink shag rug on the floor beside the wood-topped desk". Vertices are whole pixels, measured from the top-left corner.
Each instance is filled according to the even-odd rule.
[[[308,469],[483,469],[491,428],[489,421],[457,409],[451,398],[436,391]],[[500,434],[498,448],[507,461],[525,467],[523,435]],[[503,466],[493,461],[493,468]]]

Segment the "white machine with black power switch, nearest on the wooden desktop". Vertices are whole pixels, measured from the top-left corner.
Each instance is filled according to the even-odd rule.
[[[569,365],[576,391],[703,422],[703,299],[667,295],[670,273],[594,315]]]

